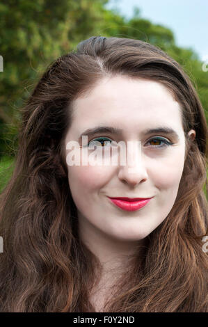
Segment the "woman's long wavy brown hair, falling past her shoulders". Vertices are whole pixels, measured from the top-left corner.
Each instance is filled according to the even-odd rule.
[[[172,92],[182,108],[186,159],[173,208],[116,281],[104,312],[207,312],[205,111],[186,72],[161,49],[102,36],[51,63],[20,110],[13,175],[0,197],[1,312],[95,311],[89,294],[100,264],[77,233],[63,141],[74,99],[115,75],[157,81]]]

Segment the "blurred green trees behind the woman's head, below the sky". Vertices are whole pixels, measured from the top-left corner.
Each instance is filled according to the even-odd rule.
[[[173,32],[141,17],[106,9],[108,0],[3,0],[0,3],[0,157],[14,155],[21,107],[51,61],[92,35],[135,38],[161,47],[189,74],[208,121],[208,72],[193,49],[175,45]]]

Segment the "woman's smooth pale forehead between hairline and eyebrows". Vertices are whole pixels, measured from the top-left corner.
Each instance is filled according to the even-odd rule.
[[[158,122],[182,125],[179,103],[162,83],[117,76],[101,79],[73,102],[73,122],[83,128],[115,123],[129,128]],[[92,126],[91,126],[92,125]]]

